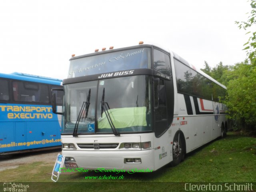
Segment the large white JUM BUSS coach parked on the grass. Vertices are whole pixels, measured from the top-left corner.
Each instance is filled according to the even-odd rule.
[[[228,129],[226,87],[152,44],[74,56],[63,86],[66,168],[154,171]]]

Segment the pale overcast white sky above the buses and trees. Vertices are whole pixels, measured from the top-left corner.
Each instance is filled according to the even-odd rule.
[[[247,0],[1,0],[1,73],[68,76],[72,54],[152,42],[204,68],[246,58]]]

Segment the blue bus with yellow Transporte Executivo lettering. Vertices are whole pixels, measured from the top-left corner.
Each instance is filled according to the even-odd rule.
[[[50,93],[62,80],[24,73],[0,74],[0,154],[61,146],[61,116]],[[63,95],[56,96],[62,108]]]

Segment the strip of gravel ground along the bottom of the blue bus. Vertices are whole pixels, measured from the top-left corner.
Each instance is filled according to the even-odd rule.
[[[54,165],[58,153],[61,153],[61,148],[47,151],[26,152],[22,154],[2,155],[0,156],[0,171],[17,168],[22,164],[29,164],[38,161],[47,162]]]

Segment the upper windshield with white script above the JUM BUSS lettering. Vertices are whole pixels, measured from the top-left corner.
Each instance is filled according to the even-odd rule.
[[[150,50],[150,48],[137,48],[70,60],[68,78],[151,68]]]

